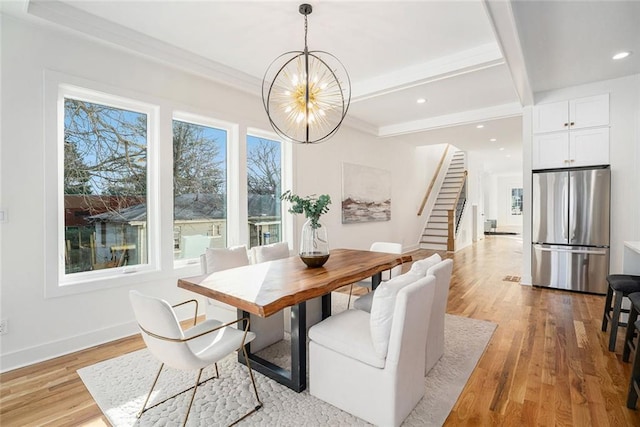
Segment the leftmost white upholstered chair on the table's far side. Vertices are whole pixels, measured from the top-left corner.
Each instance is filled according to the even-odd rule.
[[[207,248],[200,258],[203,274],[229,268],[249,265],[246,246],[234,246],[231,248]],[[238,283],[242,286],[242,283]],[[217,319],[222,322],[231,322],[238,318],[238,309],[213,299],[207,299],[207,319]],[[252,314],[251,330],[256,333],[256,339],[251,344],[251,351],[256,352],[268,347],[284,338],[284,314],[279,311],[269,317],[260,317]]]

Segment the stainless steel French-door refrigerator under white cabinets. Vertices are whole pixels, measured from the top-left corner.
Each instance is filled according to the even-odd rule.
[[[534,171],[532,191],[533,285],[605,294],[611,170]]]

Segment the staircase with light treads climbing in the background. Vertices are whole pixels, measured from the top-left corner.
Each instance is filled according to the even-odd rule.
[[[431,211],[427,226],[422,232],[420,248],[436,251],[447,250],[447,211],[455,209],[454,203],[464,184],[465,158],[464,152],[456,151],[449,164],[440,193]]]

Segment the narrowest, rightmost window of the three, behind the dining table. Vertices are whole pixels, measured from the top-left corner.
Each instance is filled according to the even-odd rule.
[[[249,247],[283,240],[281,165],[279,141],[247,135]]]

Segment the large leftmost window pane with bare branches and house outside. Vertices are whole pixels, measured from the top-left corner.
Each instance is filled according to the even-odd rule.
[[[64,273],[146,264],[146,112],[64,97]]]

